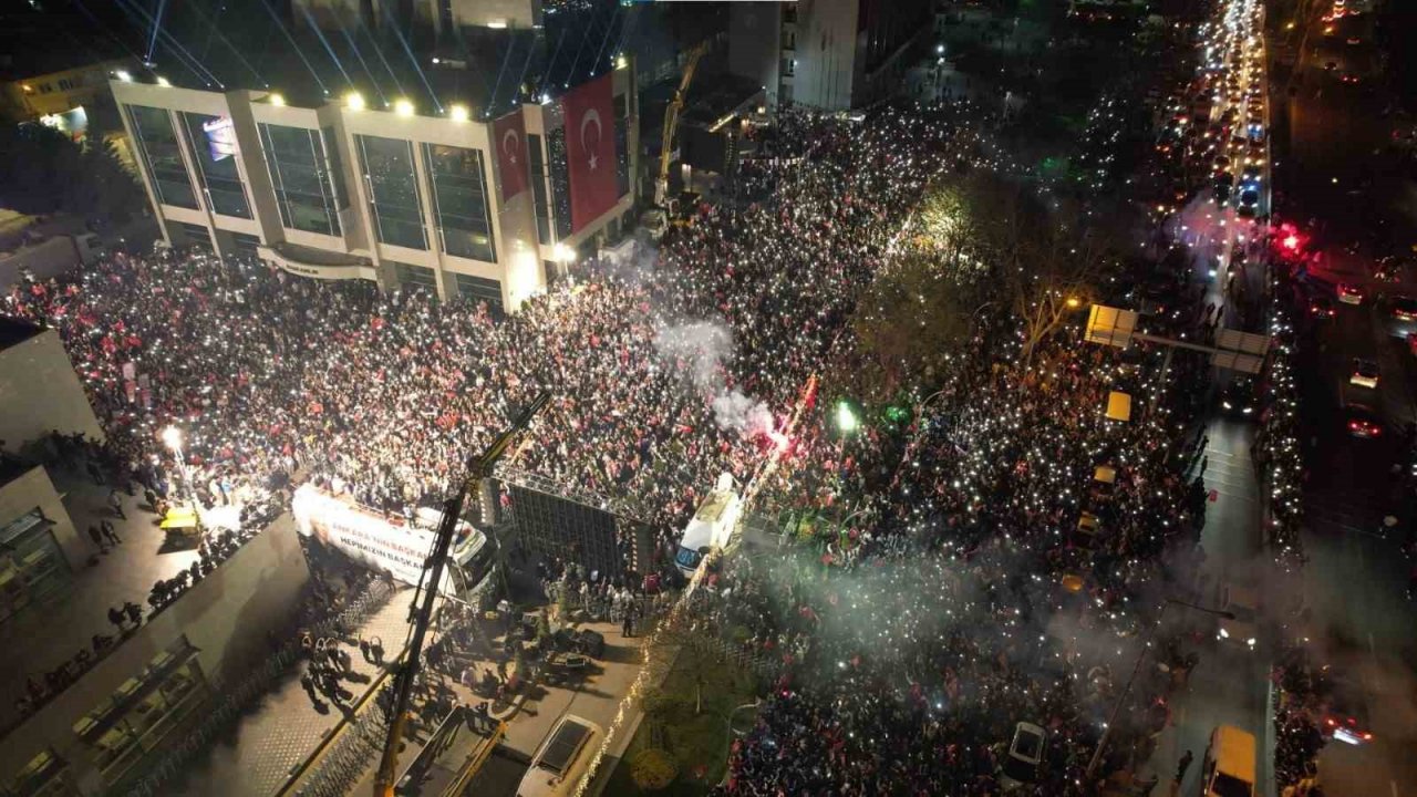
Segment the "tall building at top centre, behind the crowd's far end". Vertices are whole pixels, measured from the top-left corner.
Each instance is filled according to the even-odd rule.
[[[778,106],[863,108],[901,88],[931,27],[930,0],[735,3],[728,68]]]

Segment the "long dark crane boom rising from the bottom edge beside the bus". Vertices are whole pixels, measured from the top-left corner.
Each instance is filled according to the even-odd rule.
[[[394,702],[388,715],[388,736],[384,739],[384,756],[378,762],[378,774],[374,777],[376,797],[394,797],[394,786],[398,783],[398,745],[404,737],[404,723],[408,715],[408,701],[414,692],[414,681],[418,678],[418,664],[424,652],[424,637],[428,635],[428,624],[432,621],[434,603],[438,598],[438,584],[442,581],[444,564],[448,559],[448,549],[452,547],[452,537],[458,530],[458,519],[462,516],[462,505],[468,494],[482,486],[483,479],[492,476],[492,468],[497,459],[506,454],[517,433],[527,428],[531,418],[551,400],[550,393],[537,396],[521,414],[503,430],[492,445],[479,457],[468,461],[468,475],[453,494],[444,501],[442,518],[438,522],[438,536],[434,539],[434,549],[424,562],[424,573],[418,580],[414,593],[414,617],[408,654],[394,674]]]

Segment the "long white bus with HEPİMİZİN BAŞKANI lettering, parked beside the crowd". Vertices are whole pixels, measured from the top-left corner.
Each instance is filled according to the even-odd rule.
[[[419,509],[410,525],[402,518],[385,516],[313,485],[296,489],[290,508],[295,528],[302,535],[313,536],[371,570],[388,573],[405,584],[417,584],[422,577],[424,560],[436,536],[438,511]],[[485,563],[489,554],[487,537],[470,523],[459,520],[452,543],[453,563]],[[472,577],[473,581],[478,579],[480,574]],[[439,591],[456,594],[446,572]]]

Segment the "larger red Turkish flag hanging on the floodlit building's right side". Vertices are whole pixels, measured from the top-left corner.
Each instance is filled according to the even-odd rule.
[[[571,172],[571,231],[580,233],[615,207],[615,96],[611,74],[561,98],[565,159]]]

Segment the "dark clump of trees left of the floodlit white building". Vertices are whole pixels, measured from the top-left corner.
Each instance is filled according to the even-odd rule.
[[[0,207],[123,220],[143,196],[111,146],[44,125],[0,126]]]

